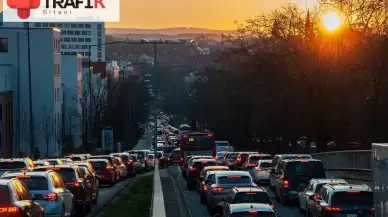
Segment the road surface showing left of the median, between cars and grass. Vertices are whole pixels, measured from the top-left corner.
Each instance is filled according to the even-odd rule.
[[[150,149],[152,132],[147,129],[146,133],[140,138],[134,149]],[[145,173],[143,173],[145,174]],[[126,186],[135,181],[137,178],[143,176],[141,174],[135,178],[129,178],[125,181],[117,183],[113,187],[100,186],[97,205],[93,206],[92,212],[87,217],[93,217],[99,214],[104,207],[109,204]]]

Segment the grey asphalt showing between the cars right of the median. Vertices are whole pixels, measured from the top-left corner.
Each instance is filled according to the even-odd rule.
[[[184,178],[181,176],[180,170],[178,167],[173,166],[168,169],[168,173],[172,178],[176,180],[176,183],[178,185],[178,190],[183,192],[183,200],[188,207],[189,210],[189,216],[190,217],[210,217],[209,213],[207,212],[206,206],[201,205],[199,201],[199,196],[196,191],[188,191],[186,188],[186,181]],[[328,177],[333,177],[331,174],[327,174]],[[352,184],[361,184],[363,183],[362,181],[351,181],[347,180],[349,183]],[[269,192],[270,196],[274,197],[272,191],[266,187],[267,192]],[[299,210],[297,206],[282,206],[280,203],[276,202],[274,200],[275,207],[279,213],[279,216],[281,217],[302,217],[299,213]],[[170,216],[169,216],[170,217]],[[179,217],[179,216],[171,216],[171,217]]]

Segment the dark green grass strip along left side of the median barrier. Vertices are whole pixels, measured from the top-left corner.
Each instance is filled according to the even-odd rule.
[[[149,217],[153,190],[153,176],[135,181],[104,212],[104,217]]]

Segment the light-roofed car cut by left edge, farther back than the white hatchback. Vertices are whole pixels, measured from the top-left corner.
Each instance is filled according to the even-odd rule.
[[[0,176],[7,171],[32,171],[35,165],[30,158],[5,158],[0,160]]]

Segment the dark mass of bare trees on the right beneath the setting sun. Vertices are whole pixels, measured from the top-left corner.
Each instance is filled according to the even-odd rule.
[[[330,10],[343,18],[333,32],[322,26]],[[208,82],[198,87],[192,111],[241,149],[284,151],[302,136],[318,151],[329,151],[328,141],[337,150],[384,142],[387,19],[386,0],[327,0],[308,11],[286,5],[236,22],[202,72]]]

